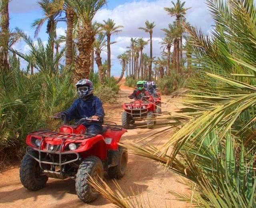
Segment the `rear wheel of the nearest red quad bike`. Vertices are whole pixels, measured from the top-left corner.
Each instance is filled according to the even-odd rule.
[[[124,147],[119,146],[119,158],[118,165],[108,168],[108,175],[110,178],[122,178],[126,170],[127,161],[128,161],[128,152]]]

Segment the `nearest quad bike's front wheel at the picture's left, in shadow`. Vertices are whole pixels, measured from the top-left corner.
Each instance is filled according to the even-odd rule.
[[[30,154],[36,156],[36,152],[30,151]],[[29,154],[25,154],[20,164],[20,181],[28,190],[36,191],[46,185],[48,177],[42,175],[39,163]]]

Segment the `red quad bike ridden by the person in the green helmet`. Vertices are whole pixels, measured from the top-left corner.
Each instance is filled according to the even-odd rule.
[[[122,126],[129,129],[130,124],[135,123],[135,118],[146,118],[147,127],[154,128],[154,117],[156,116],[156,104],[152,96],[144,96],[141,100],[134,100],[130,103],[123,104]]]

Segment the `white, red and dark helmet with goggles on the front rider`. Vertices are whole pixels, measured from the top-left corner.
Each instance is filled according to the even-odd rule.
[[[76,83],[76,89],[78,96],[85,99],[87,96],[93,93],[93,84],[91,80],[82,79]]]

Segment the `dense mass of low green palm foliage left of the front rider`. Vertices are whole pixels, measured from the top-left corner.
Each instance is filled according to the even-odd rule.
[[[17,66],[0,73],[0,150],[19,152],[28,132],[54,127],[50,116],[68,108],[76,91],[70,72],[31,76]]]

